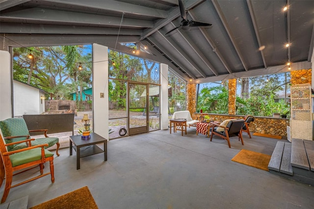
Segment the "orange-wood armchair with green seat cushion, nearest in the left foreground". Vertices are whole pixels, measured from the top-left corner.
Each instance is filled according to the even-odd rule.
[[[5,187],[0,203],[5,202],[10,189],[15,186],[19,186],[49,174],[51,175],[51,182],[54,183],[53,153],[44,149],[44,146],[48,146],[48,144],[26,147],[10,152],[7,149],[9,146],[15,147],[15,145],[20,142],[29,143],[31,141],[34,141],[34,139],[5,143],[2,135],[0,134],[0,187],[5,177]],[[50,162],[50,172],[44,173],[44,163],[48,161]],[[28,171],[30,168],[34,168],[34,166],[38,165],[40,168],[40,174],[38,176],[12,185],[14,175]]]

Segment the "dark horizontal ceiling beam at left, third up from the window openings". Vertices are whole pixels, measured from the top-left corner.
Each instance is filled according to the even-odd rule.
[[[82,14],[78,12],[66,12],[52,9],[29,8],[19,11],[1,13],[2,20],[21,19],[27,21],[55,22],[67,24],[84,24],[88,26],[127,26],[127,27],[153,27],[152,21],[137,20],[121,17],[110,17],[103,15]]]

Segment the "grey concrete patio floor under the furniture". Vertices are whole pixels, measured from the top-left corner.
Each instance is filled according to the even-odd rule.
[[[249,139],[244,133],[244,146],[233,137],[230,149],[217,136],[212,142],[197,136],[195,127],[187,132],[110,140],[107,161],[103,154],[84,157],[79,170],[76,153],[62,149],[54,159],[53,184],[46,176],[12,188],[6,202],[29,195],[32,207],[88,186],[100,209],[314,208],[313,186],[231,161],[241,149],[271,155],[277,139]],[[32,173],[35,169],[13,180]]]

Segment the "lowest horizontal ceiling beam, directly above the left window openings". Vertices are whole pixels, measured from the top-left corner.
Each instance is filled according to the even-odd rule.
[[[5,37],[5,38],[3,38]],[[44,47],[62,45],[84,45],[102,44],[117,42],[136,42],[138,36],[116,35],[62,35],[62,34],[0,34],[0,49],[7,50],[10,47]]]

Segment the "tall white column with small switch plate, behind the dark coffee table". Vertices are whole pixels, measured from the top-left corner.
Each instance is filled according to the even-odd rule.
[[[100,93],[105,97],[101,98]],[[109,139],[108,47],[93,44],[93,129]]]

